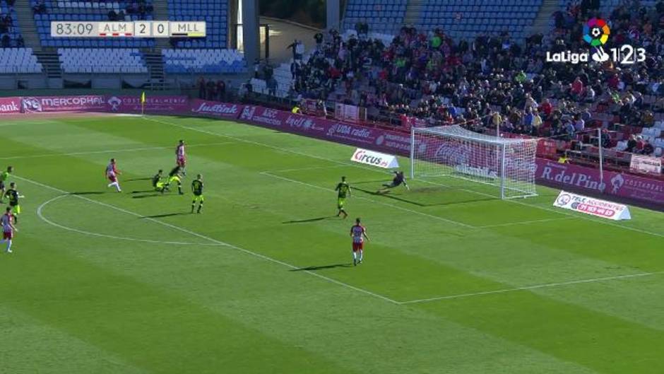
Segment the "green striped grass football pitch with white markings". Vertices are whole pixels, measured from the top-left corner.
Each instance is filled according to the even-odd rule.
[[[502,201],[451,178],[379,195],[391,176],[350,146],[214,119],[0,131],[25,195],[0,255],[2,374],[663,372],[661,213],[601,221],[553,208],[555,189]],[[186,194],[154,192],[179,139]],[[355,217],[371,238],[357,267]]]

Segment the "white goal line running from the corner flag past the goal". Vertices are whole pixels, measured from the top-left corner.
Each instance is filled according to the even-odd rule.
[[[225,134],[218,134],[218,133],[215,133],[215,132],[209,132],[209,131],[207,131],[207,130],[197,129],[196,127],[184,126],[184,125],[182,125],[182,124],[176,124],[176,123],[173,123],[173,122],[167,122],[167,121],[163,121],[163,120],[161,120],[161,119],[155,119],[155,118],[150,118],[150,117],[141,117],[141,119],[146,119],[146,120],[148,120],[148,121],[158,122],[158,123],[162,123],[162,124],[168,124],[168,125],[170,125],[170,126],[179,127],[179,128],[181,128],[181,129],[188,129],[188,130],[191,130],[191,131],[194,131],[194,132],[201,132],[201,133],[203,133],[203,134],[209,134],[209,135],[213,135],[213,136],[220,136],[220,137],[227,138],[227,139],[233,139],[233,140],[235,140],[235,141],[242,141],[242,142],[244,142],[244,143],[247,143],[247,144],[254,144],[254,145],[256,145],[256,146],[264,146],[264,147],[266,147],[266,148],[272,148],[272,149],[275,149],[275,150],[278,150],[278,151],[282,151],[282,152],[294,153],[294,154],[297,154],[297,155],[300,155],[300,156],[307,156],[307,157],[310,157],[310,158],[316,158],[316,159],[319,159],[319,160],[325,160],[325,161],[328,161],[328,162],[330,162],[330,163],[336,163],[336,164],[338,164],[338,165],[346,165],[346,166],[350,166],[350,167],[353,167],[353,168],[362,168],[362,169],[366,169],[366,170],[372,170],[373,172],[378,172],[378,170],[375,170],[375,169],[372,169],[372,168],[369,168],[369,167],[364,167],[364,166],[362,166],[362,165],[353,164],[353,163],[350,163],[350,162],[343,162],[343,161],[338,161],[338,160],[332,160],[332,159],[330,159],[330,158],[321,157],[321,156],[316,156],[316,155],[312,155],[312,154],[309,154],[309,153],[304,153],[304,152],[299,152],[299,151],[292,151],[292,150],[290,150],[290,149],[287,149],[287,148],[281,148],[281,147],[278,147],[278,146],[273,146],[273,145],[271,145],[271,144],[265,144],[265,143],[260,143],[260,142],[258,142],[258,141],[251,141],[251,140],[247,140],[247,139],[242,139],[242,138],[238,138],[237,136],[230,136],[230,135],[225,135]],[[429,183],[430,185],[438,185],[438,186],[441,186],[441,187],[451,187],[451,186],[449,186],[449,185],[444,185],[444,184],[442,184],[442,183],[436,183],[436,182],[430,182],[430,181],[428,181],[428,180],[419,180],[419,181],[420,181],[420,182]],[[485,194],[485,193],[482,193],[482,192],[473,191],[473,190],[471,190],[471,189],[460,189],[460,190],[461,190],[461,191],[465,191],[465,192],[469,192],[469,193],[472,193],[472,194],[478,194],[478,195],[485,196],[485,197],[492,197],[492,198],[495,198],[495,196],[493,196],[493,195],[491,195],[491,194]],[[653,233],[652,231],[641,230],[641,229],[639,229],[639,228],[631,228],[631,227],[628,227],[628,226],[622,226],[622,225],[619,225],[619,224],[617,224],[617,223],[612,223],[612,222],[608,222],[608,221],[598,221],[598,220],[595,220],[595,219],[593,219],[593,218],[591,218],[591,217],[589,217],[589,216],[584,216],[584,215],[582,215],[582,214],[571,214],[571,213],[567,213],[567,212],[563,212],[563,211],[559,211],[559,210],[555,210],[555,209],[547,208],[547,207],[545,207],[545,206],[537,206],[537,205],[532,205],[532,204],[526,204],[526,203],[523,203],[523,202],[518,201],[518,200],[516,200],[516,199],[505,199],[504,201],[507,201],[507,202],[509,202],[509,203],[513,203],[513,204],[523,205],[523,206],[530,206],[531,208],[534,208],[534,209],[542,209],[542,210],[545,210],[545,211],[550,211],[550,212],[555,213],[555,214],[562,214],[563,216],[569,216],[569,217],[581,218],[581,219],[585,219],[585,220],[587,220],[587,221],[591,221],[591,222],[595,222],[595,223],[600,223],[600,224],[607,225],[607,226],[614,226],[614,227],[617,227],[617,228],[624,228],[625,230],[631,230],[631,231],[634,231],[634,232],[636,232],[636,233],[643,233],[643,234],[647,234],[647,235],[657,236],[657,237],[659,237],[659,238],[664,238],[664,234]]]

